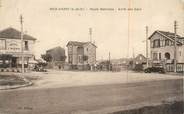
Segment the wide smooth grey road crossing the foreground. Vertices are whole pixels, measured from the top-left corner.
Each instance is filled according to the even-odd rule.
[[[182,79],[6,90],[0,91],[0,114],[105,114],[182,96]]]

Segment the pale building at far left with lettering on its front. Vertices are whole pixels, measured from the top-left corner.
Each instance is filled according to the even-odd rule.
[[[34,44],[36,38],[23,35],[23,53],[25,67],[34,59]],[[21,61],[21,32],[14,28],[0,31],[0,67],[20,67]]]

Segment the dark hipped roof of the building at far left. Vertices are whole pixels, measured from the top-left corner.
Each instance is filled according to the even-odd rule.
[[[14,29],[14,28],[11,28],[11,27],[0,31],[0,38],[20,39],[21,38],[20,36],[21,36],[21,32]],[[36,40],[36,38],[34,38],[30,35],[27,35],[27,34],[24,34],[23,39],[25,39],[25,40]]]

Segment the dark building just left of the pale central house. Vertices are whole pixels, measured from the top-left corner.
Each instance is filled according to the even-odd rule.
[[[52,61],[49,62],[48,66],[49,68],[63,68],[66,55],[65,55],[65,49],[58,46],[54,47],[52,49],[49,49],[46,51],[46,54],[49,54],[52,58]]]

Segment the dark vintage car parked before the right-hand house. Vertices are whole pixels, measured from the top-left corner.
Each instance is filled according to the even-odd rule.
[[[145,73],[151,73],[151,72],[158,72],[158,73],[165,73],[165,69],[163,67],[148,67],[144,69]]]

